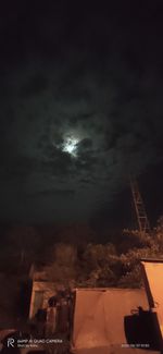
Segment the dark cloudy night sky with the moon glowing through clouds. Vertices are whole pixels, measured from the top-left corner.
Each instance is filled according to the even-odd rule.
[[[0,221],[163,213],[163,3],[1,1]]]

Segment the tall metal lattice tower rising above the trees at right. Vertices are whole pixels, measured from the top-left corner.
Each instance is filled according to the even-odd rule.
[[[139,192],[139,186],[136,180],[130,180],[130,187],[131,187],[139,231],[141,236],[143,236],[146,233],[150,233],[149,220],[147,217],[141,194]]]

